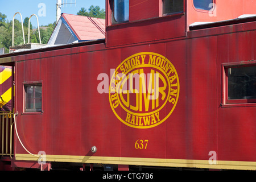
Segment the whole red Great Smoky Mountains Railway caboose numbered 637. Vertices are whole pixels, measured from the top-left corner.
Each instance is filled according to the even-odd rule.
[[[236,2],[216,17],[214,0],[107,0],[106,39],[0,56],[15,72],[2,163],[255,170],[256,18],[240,15],[256,5]]]

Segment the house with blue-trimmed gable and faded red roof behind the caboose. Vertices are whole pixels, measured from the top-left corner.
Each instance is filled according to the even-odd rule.
[[[47,45],[105,39],[105,19],[61,14]]]

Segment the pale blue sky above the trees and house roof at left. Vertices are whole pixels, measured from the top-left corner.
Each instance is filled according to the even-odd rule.
[[[75,2],[75,0],[61,0],[64,3]],[[77,12],[84,7],[86,10],[91,5],[100,6],[105,9],[105,0],[76,0],[75,5],[63,5],[61,13],[77,14]],[[67,6],[67,7],[66,7]],[[0,12],[7,15],[7,19],[13,20],[16,12],[22,14],[22,19],[36,14],[39,19],[39,26],[53,23],[56,20],[56,0],[0,0]],[[19,14],[16,14],[15,19],[20,20]],[[37,28],[35,16],[31,18],[32,26]]]

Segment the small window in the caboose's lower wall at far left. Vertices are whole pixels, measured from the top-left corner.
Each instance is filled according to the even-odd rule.
[[[25,112],[42,111],[42,84],[24,85]]]

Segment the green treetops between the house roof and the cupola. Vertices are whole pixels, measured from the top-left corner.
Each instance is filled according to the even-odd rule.
[[[84,7],[81,7],[81,10],[77,13],[77,15],[81,16],[89,16],[95,18],[102,18],[105,19],[105,10],[101,9],[100,6],[90,6],[89,11],[86,11]]]

